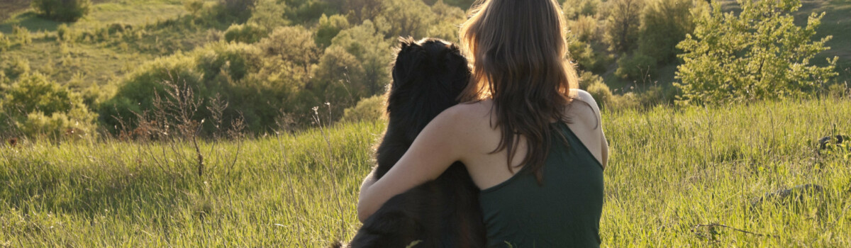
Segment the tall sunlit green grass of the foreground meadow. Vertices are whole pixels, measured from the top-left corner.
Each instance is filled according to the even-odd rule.
[[[848,157],[816,155],[814,145],[851,133],[848,114],[847,98],[604,112],[611,158],[603,246],[848,247]],[[201,178],[189,144],[83,139],[0,147],[0,246],[317,247],[348,240],[383,126],[206,142]],[[819,184],[823,194],[751,206],[753,198],[805,183]]]

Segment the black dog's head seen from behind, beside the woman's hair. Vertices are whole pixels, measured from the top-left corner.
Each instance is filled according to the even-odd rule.
[[[403,122],[414,137],[437,114],[458,104],[470,80],[470,68],[460,49],[434,38],[401,38],[387,98],[390,121]],[[413,128],[417,127],[417,128]]]

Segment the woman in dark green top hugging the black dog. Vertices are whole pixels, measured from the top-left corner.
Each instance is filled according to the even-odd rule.
[[[435,117],[396,166],[364,179],[363,221],[461,161],[482,189],[488,246],[599,246],[608,144],[597,103],[574,89],[554,0],[485,0],[460,29],[471,60],[461,102]]]

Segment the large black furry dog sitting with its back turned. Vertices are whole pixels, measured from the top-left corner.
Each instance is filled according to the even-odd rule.
[[[458,104],[470,79],[467,60],[450,42],[401,39],[387,99],[389,124],[377,150],[380,178],[395,165],[426,124]],[[455,162],[434,181],[388,200],[357,231],[351,247],[483,247],[478,188]]]

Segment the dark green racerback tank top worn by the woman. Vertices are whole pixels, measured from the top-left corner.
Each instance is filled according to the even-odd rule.
[[[603,166],[562,121],[551,138],[543,182],[524,166],[479,194],[488,247],[599,247]],[[553,133],[556,135],[556,133]]]

